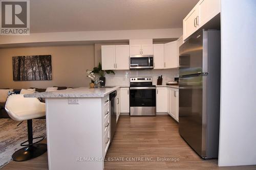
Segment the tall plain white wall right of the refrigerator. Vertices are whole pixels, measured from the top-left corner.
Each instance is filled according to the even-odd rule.
[[[256,1],[221,1],[219,166],[256,164]]]

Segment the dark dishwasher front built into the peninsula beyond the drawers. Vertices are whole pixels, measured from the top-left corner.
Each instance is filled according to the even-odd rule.
[[[110,93],[110,142],[112,142],[116,131],[116,96],[116,90]]]

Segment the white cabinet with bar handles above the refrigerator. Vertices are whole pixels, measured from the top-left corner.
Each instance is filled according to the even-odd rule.
[[[220,13],[220,0],[200,0],[183,19],[183,40]]]

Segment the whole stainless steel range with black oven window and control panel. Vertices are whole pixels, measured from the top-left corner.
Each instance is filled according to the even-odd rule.
[[[156,86],[152,77],[130,78],[130,115],[156,115]]]

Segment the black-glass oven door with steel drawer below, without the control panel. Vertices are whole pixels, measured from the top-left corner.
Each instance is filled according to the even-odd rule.
[[[156,115],[156,87],[130,87],[130,115]]]

